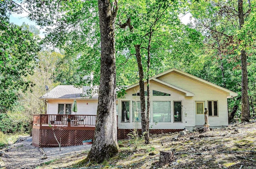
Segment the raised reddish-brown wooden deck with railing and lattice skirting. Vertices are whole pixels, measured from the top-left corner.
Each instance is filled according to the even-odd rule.
[[[57,147],[82,145],[82,141],[93,139],[96,115],[36,114],[33,116],[32,145]]]

